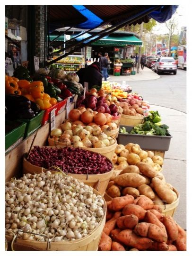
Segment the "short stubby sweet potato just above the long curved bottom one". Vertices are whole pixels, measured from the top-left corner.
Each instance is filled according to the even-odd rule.
[[[120,229],[133,229],[135,225],[138,224],[138,222],[138,217],[134,214],[131,214],[119,217],[116,221],[116,224]]]

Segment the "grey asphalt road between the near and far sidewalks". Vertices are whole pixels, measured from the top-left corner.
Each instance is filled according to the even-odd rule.
[[[161,73],[160,78],[147,81],[129,81],[133,92],[138,92],[152,105],[179,110],[186,113],[186,71],[177,74]]]

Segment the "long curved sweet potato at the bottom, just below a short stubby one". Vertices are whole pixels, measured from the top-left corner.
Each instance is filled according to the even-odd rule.
[[[117,239],[126,246],[137,248],[138,250],[147,250],[153,241],[149,238],[137,236],[131,229],[122,230]]]

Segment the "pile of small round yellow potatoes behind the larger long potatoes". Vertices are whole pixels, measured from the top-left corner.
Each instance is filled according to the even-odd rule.
[[[128,143],[126,146],[122,144],[116,146],[112,162],[114,169],[119,170],[123,170],[129,165],[143,162],[151,165],[159,172],[162,169],[163,158],[159,155],[154,155],[152,151],[142,150],[138,144]]]

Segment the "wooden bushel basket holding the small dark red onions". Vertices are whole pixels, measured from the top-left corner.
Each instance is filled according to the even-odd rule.
[[[57,146],[57,147],[63,147],[63,146]],[[113,168],[114,168],[113,162],[108,157],[106,158],[110,161],[110,163],[113,166],[110,172],[107,172],[105,174],[70,174],[70,173],[68,174],[78,179],[79,181],[87,184],[88,186],[93,187],[100,194],[104,195],[107,185],[109,183],[109,180],[111,178],[111,175],[113,174]],[[26,160],[26,157],[23,158],[23,174],[39,174],[42,172],[42,170],[48,171],[45,168],[32,165],[29,161]],[[54,172],[54,171],[51,171],[51,172]]]

